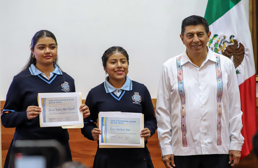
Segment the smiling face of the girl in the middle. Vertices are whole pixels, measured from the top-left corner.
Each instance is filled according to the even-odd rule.
[[[109,80],[111,81],[125,80],[128,73],[126,57],[119,52],[109,56],[107,66],[104,67],[104,70],[108,73]]]

